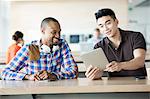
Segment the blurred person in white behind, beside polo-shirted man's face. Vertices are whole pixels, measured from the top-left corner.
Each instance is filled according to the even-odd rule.
[[[94,33],[92,38],[90,38],[87,42],[88,43],[93,43],[93,46],[98,43],[100,40],[102,40],[102,34],[100,33],[100,30],[98,28],[94,29]]]

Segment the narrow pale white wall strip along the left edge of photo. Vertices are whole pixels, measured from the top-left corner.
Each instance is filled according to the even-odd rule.
[[[9,2],[0,0],[0,62],[5,60],[5,52],[8,47],[8,42],[10,41],[10,39],[8,39],[10,32],[9,7]]]

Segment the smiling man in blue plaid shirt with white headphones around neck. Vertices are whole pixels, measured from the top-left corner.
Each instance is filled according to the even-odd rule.
[[[41,33],[40,40],[24,45],[3,69],[3,80],[55,81],[78,77],[78,67],[71,50],[60,38],[59,22],[52,17],[43,19]]]

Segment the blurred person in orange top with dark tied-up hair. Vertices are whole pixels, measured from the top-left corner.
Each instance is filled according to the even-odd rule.
[[[16,31],[12,35],[12,39],[14,40],[14,43],[8,47],[6,52],[6,64],[10,62],[24,44],[23,33],[20,31]]]

